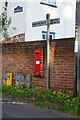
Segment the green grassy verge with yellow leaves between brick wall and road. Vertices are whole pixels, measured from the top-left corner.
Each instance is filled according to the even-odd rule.
[[[47,91],[41,88],[36,89],[2,85],[2,92],[7,95],[34,101],[36,105],[47,109],[80,114],[80,97],[73,98],[73,96],[66,91],[62,92],[53,89]],[[53,103],[58,103],[58,105],[54,106]]]

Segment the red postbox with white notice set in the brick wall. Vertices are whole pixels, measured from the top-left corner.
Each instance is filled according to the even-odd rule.
[[[40,49],[35,49],[35,74],[40,74]]]

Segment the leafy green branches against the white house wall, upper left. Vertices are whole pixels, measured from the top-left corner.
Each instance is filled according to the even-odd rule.
[[[8,38],[8,28],[11,24],[11,17],[7,17],[7,8],[8,8],[8,2],[5,1],[3,6],[3,12],[0,15],[0,33],[2,36],[7,39]],[[16,29],[15,27],[12,27],[12,29]]]

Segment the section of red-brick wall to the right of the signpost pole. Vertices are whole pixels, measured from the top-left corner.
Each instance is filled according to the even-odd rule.
[[[52,50],[52,46],[54,49]],[[74,80],[74,42],[57,40],[50,49],[50,87],[73,90]],[[54,54],[53,54],[54,53]]]

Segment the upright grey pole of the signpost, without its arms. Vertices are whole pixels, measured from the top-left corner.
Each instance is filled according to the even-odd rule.
[[[49,88],[49,32],[50,32],[50,14],[46,14],[47,22],[47,90]]]

